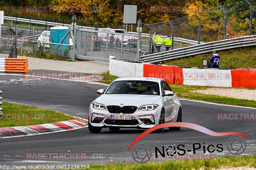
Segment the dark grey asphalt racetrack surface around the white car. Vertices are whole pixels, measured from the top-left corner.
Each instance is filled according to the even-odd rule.
[[[1,97],[4,101],[29,105],[64,112],[87,119],[89,104],[99,96],[96,91],[106,85],[67,81],[67,80],[29,80],[20,81],[20,75],[0,75]],[[195,123],[214,132],[240,132],[251,138],[246,140],[243,154],[256,153],[255,120],[215,120],[219,113],[256,113],[248,107],[215,105],[209,102],[180,100],[182,104],[182,122]],[[3,110],[4,113],[4,110]],[[100,134],[90,133],[88,128],[49,133],[35,136],[0,139],[0,162],[5,165],[90,165],[116,162],[134,162],[130,144],[145,130],[120,129],[117,132],[102,129]],[[154,152],[155,146],[177,146],[184,144],[192,149],[193,143],[205,145],[223,144],[223,152],[213,154],[231,155],[227,140],[231,136],[215,137],[202,132],[181,128],[171,131],[165,128],[164,133],[150,133],[136,144],[147,144]],[[136,145],[135,144],[135,145]],[[133,146],[134,147],[134,146]],[[132,148],[133,148],[132,147]],[[26,160],[23,153],[89,153],[87,160]],[[201,148],[198,152],[202,153]],[[154,161],[154,160],[151,160]]]

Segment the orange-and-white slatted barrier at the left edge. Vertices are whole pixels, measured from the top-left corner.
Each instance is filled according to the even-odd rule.
[[[0,58],[0,72],[28,73],[27,58]]]

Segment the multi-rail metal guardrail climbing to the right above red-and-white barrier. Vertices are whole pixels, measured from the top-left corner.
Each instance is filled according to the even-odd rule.
[[[188,57],[203,54],[210,51],[224,50],[230,48],[246,47],[256,45],[256,35],[230,38],[221,41],[207,42],[190,47],[173,49],[156,54],[140,56],[140,62],[156,63],[175,58]]]

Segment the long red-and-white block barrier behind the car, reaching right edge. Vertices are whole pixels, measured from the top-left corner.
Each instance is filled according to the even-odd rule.
[[[118,77],[163,78],[171,84],[256,88],[256,69],[203,69],[109,59],[109,73]]]

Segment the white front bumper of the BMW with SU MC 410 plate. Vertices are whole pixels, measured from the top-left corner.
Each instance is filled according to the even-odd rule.
[[[94,109],[90,106],[88,120],[92,126],[95,127],[122,127],[122,128],[151,128],[159,123],[159,116],[161,112],[161,107],[157,107],[155,110],[142,111],[136,110],[132,114],[115,114],[109,113],[107,109]],[[131,115],[132,120],[118,120],[111,119],[111,115]]]

